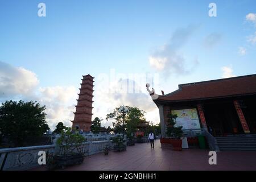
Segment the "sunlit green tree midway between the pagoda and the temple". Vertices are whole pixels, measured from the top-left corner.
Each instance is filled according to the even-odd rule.
[[[127,133],[130,135],[131,133],[135,133],[137,129],[138,122],[141,119],[144,119],[144,112],[143,110],[138,109],[137,107],[130,107],[126,106],[128,109],[127,114],[123,115],[121,111],[119,111],[120,107],[116,107],[112,113],[109,113],[106,116],[106,119],[114,119],[115,122],[113,122],[114,127],[114,133],[122,133],[125,131],[125,134]],[[124,119],[124,125],[123,124]]]

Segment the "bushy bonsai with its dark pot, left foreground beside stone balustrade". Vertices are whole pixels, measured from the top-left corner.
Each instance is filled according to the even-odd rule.
[[[81,164],[84,160],[83,142],[85,142],[85,138],[78,131],[72,131],[70,127],[61,131],[60,137],[57,139],[57,147],[60,148],[60,152],[54,156],[56,166],[64,168],[68,165]]]

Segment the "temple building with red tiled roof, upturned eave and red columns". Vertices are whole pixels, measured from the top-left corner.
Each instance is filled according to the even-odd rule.
[[[162,137],[167,114],[177,114],[184,131],[207,130],[214,137],[256,133],[256,75],[179,85],[169,94],[158,95],[146,85],[159,108]]]

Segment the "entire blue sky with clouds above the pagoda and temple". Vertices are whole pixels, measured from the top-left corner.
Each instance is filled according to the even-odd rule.
[[[95,77],[93,118],[129,105],[158,123],[146,82],[170,93],[178,84],[255,74],[255,58],[255,0],[0,0],[0,102],[46,105],[52,129],[71,126],[82,75]]]

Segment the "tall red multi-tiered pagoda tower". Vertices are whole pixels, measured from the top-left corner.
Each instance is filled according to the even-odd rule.
[[[79,99],[77,100],[75,118],[72,128],[83,131],[90,131],[92,124],[92,98],[93,98],[93,78],[90,75],[82,76],[82,83],[79,93]]]

